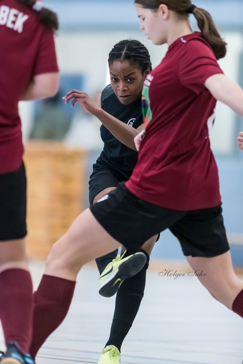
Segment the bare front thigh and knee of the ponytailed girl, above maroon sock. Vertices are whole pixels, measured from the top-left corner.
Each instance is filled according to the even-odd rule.
[[[81,267],[94,258],[113,252],[121,244],[98,223],[86,209],[72,223],[67,233],[51,249],[45,273],[76,280]]]

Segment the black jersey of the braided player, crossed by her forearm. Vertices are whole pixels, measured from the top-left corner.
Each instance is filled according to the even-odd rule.
[[[141,99],[129,105],[124,105],[115,96],[111,85],[106,86],[102,91],[101,108],[123,123],[136,129],[144,122]],[[130,177],[137,163],[137,151],[119,142],[103,124],[100,130],[101,139],[104,142],[104,149],[96,163],[110,167],[118,173],[119,171],[124,172]]]

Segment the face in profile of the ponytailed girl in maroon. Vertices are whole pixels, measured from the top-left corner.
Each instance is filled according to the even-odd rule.
[[[140,19],[140,29],[148,36],[153,44],[160,45],[167,41],[166,23],[167,8],[158,8],[158,11],[142,8],[141,5],[135,3],[137,15]],[[164,11],[165,10],[165,11]]]

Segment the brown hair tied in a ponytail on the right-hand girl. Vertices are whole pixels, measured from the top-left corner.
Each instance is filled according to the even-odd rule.
[[[175,11],[178,16],[185,17],[185,19],[188,18],[188,9],[192,8],[191,0],[135,0],[136,4],[153,11],[157,11],[158,7],[164,4],[169,10]],[[212,47],[216,59],[223,58],[226,55],[227,43],[217,31],[211,15],[206,10],[197,7],[192,9],[192,14],[195,16],[204,38]]]

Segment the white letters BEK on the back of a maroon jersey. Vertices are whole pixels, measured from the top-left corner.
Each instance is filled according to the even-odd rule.
[[[17,9],[10,9],[8,6],[0,6],[0,25],[6,25],[6,27],[17,31],[23,32],[23,24],[28,19],[28,15],[24,15]]]

